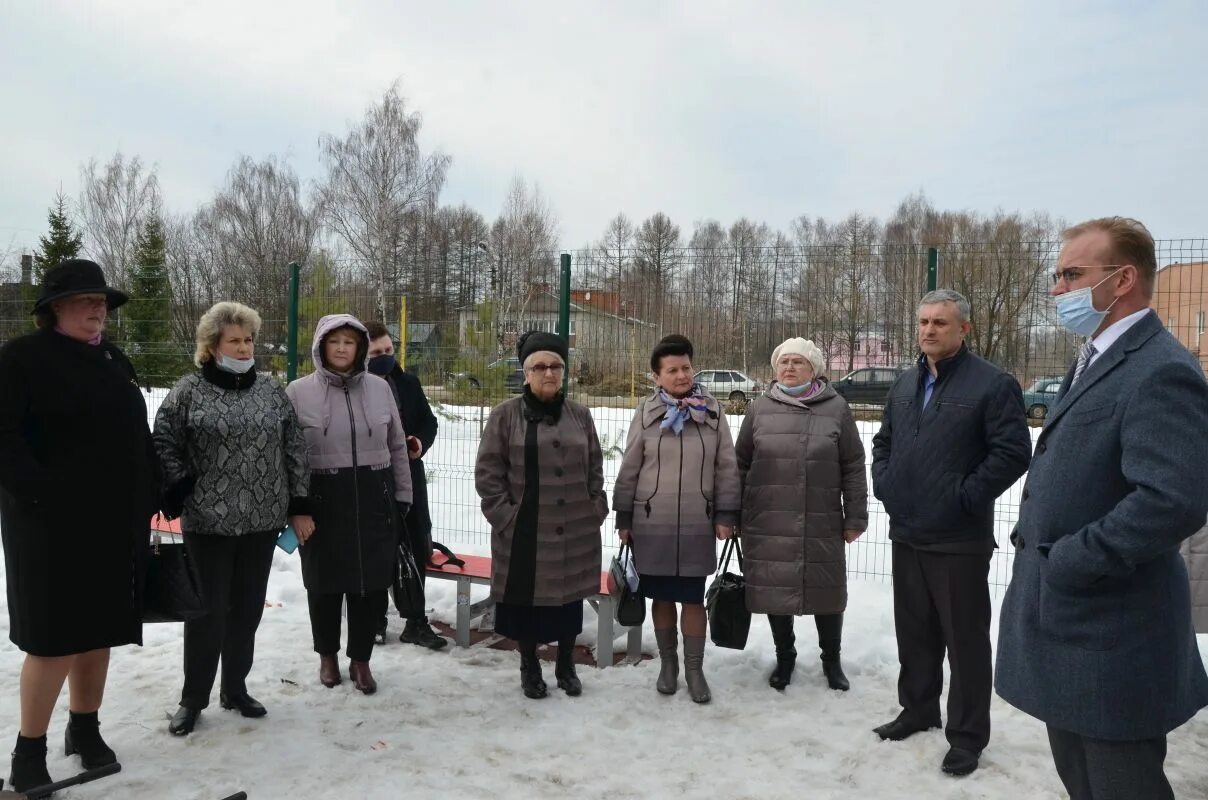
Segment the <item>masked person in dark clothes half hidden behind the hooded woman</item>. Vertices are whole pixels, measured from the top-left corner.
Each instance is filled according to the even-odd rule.
[[[424,396],[424,388],[420,385],[419,378],[403,372],[402,367],[399,366],[399,360],[394,355],[394,340],[390,338],[390,331],[387,330],[385,325],[371,320],[365,323],[365,329],[370,332],[370,372],[382,376],[390,384],[394,399],[399,404],[402,429],[407,431],[412,503],[411,508],[407,509],[405,522],[411,552],[414,555],[420,575],[423,575],[428,560],[432,555],[432,517],[428,510],[428,476],[424,473],[424,462],[420,459],[436,441],[436,415],[428,405],[428,398]],[[400,587],[395,586],[395,604],[399,602],[399,592]],[[378,624],[378,644],[385,643],[385,627],[387,620],[383,610],[382,620]],[[407,620],[399,640],[432,650],[440,650],[448,644],[432,630],[428,624],[428,616],[423,613]]]

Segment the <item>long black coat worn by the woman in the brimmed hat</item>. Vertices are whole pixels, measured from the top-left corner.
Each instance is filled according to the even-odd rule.
[[[0,349],[0,529],[10,638],[33,655],[141,644],[158,505],[146,404],[108,341],[53,330]]]

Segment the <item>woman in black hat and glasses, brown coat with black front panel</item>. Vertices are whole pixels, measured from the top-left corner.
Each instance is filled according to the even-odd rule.
[[[516,353],[524,393],[490,412],[474,470],[490,523],[495,632],[517,642],[521,689],[533,700],[548,694],[536,645],[557,642],[554,677],[574,697],[582,692],[574,648],[583,598],[600,589],[604,457],[591,413],[562,392],[562,337],[528,332]]]

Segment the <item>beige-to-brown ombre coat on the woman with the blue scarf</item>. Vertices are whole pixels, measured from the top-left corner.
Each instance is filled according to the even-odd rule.
[[[633,413],[616,476],[616,527],[631,531],[634,563],[644,575],[701,578],[716,569],[714,524],[738,521],[739,485],[730,424],[707,395],[704,422],[679,435],[663,429],[657,395]]]

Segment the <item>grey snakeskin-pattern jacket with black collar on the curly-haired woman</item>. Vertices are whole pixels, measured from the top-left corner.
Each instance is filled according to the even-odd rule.
[[[286,512],[304,510],[306,439],[285,389],[267,375],[207,361],[164,398],[152,437],[164,511],[179,514],[186,533],[280,531]]]

